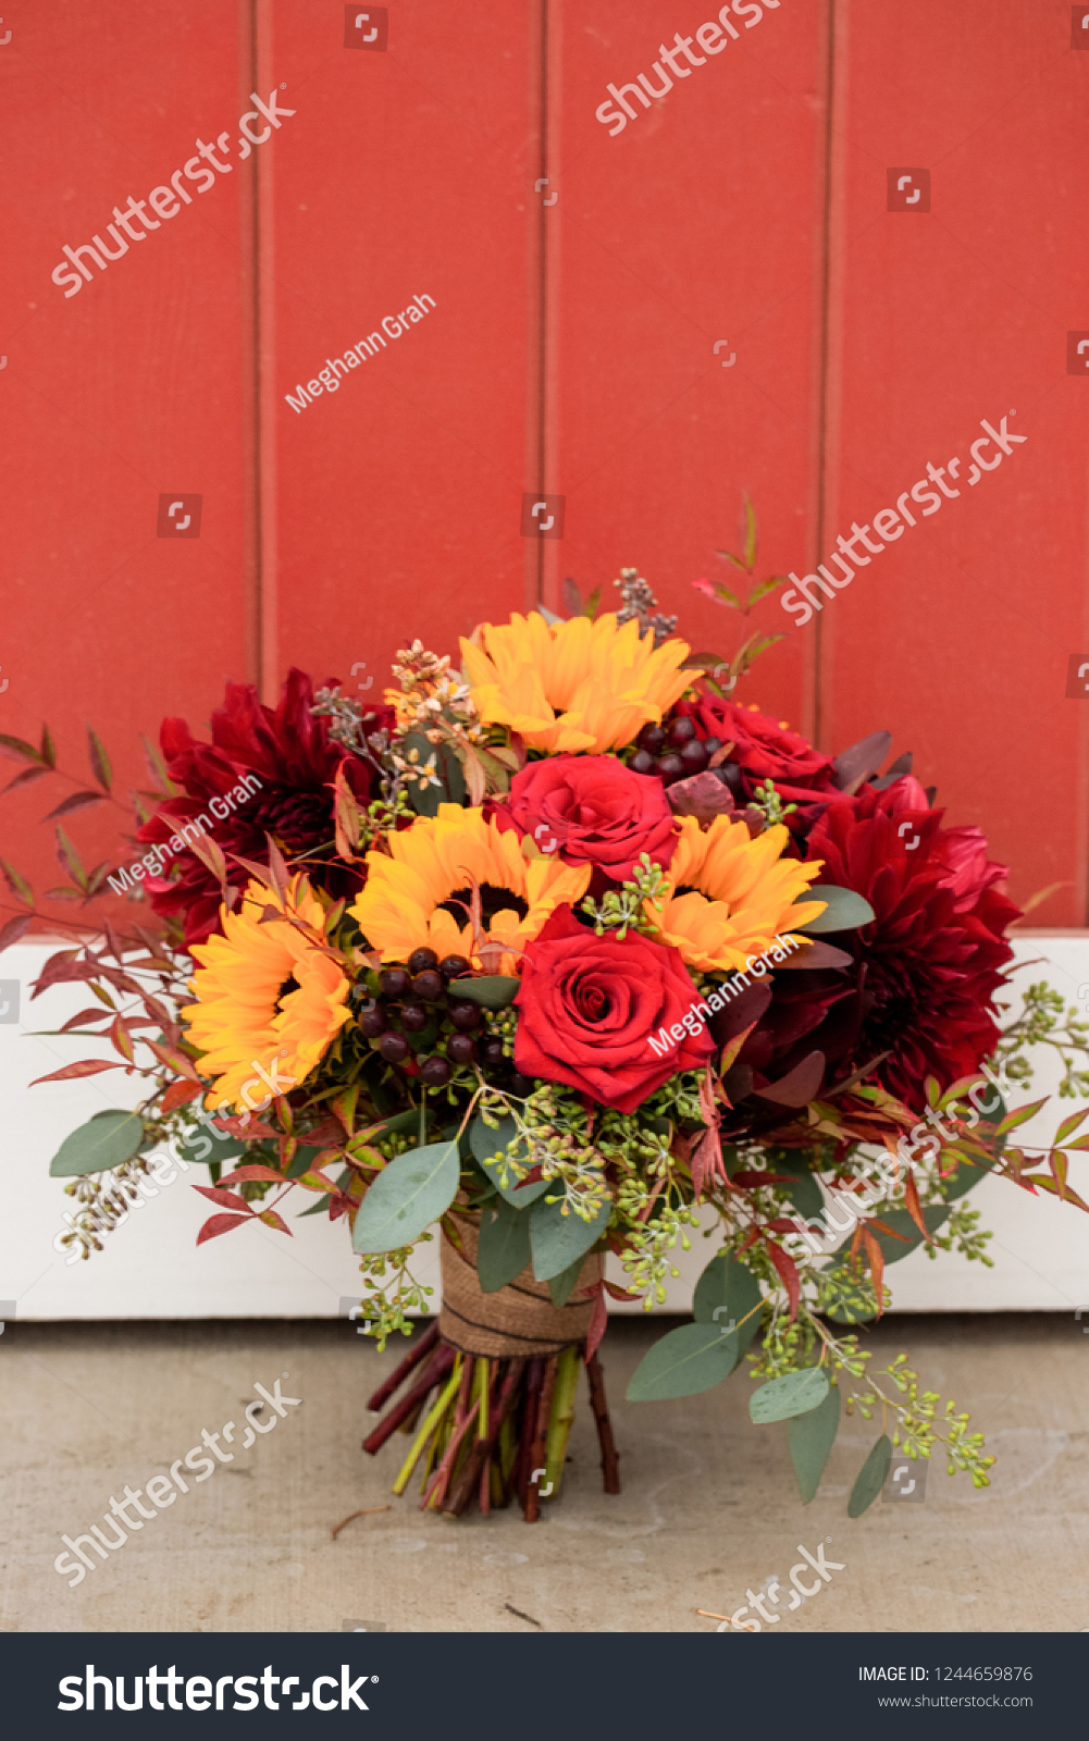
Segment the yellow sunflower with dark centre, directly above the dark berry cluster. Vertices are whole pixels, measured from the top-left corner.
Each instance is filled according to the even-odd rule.
[[[517,832],[485,822],[480,810],[440,804],[411,829],[388,834],[390,851],[367,853],[367,884],[351,912],[383,961],[407,961],[430,947],[438,958],[473,958],[470,924],[473,883],[480,890],[484,931],[510,945],[492,973],[515,973],[517,951],[532,942],[555,907],[586,893],[591,867],[522,855]],[[480,959],[477,956],[477,959]]]

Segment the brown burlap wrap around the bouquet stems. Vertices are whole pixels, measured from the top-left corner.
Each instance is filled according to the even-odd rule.
[[[562,1348],[586,1341],[593,1301],[553,1306],[548,1283],[536,1281],[531,1266],[496,1294],[484,1294],[477,1280],[480,1220],[477,1215],[458,1215],[456,1220],[463,1250],[459,1252],[445,1236],[440,1243],[438,1334],[444,1342],[461,1349],[463,1354],[529,1360],[534,1354],[558,1354]],[[602,1273],[600,1252],[590,1255],[571,1290],[572,1295],[595,1287]]]

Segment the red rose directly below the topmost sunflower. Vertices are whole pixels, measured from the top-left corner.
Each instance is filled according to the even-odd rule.
[[[548,756],[529,763],[510,787],[510,803],[496,811],[543,853],[565,864],[590,864],[625,883],[640,853],[668,865],[677,846],[677,822],[659,780],[631,773],[616,756]]]

